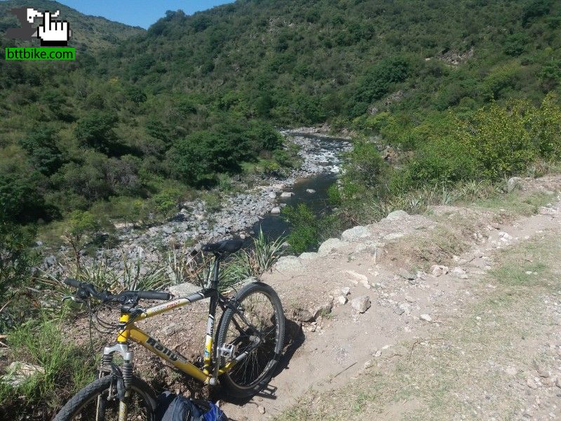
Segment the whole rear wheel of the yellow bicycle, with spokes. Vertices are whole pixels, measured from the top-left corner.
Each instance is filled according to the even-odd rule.
[[[224,312],[217,349],[229,344],[234,345],[234,359],[245,352],[248,355],[219,380],[227,394],[245,398],[258,393],[271,380],[284,345],[285,316],[275,290],[262,282],[241,288],[236,300],[243,317],[233,309]]]

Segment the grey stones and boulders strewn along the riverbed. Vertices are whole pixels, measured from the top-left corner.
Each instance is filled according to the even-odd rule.
[[[116,232],[119,246],[109,250],[98,250],[97,259],[103,257],[109,267],[121,270],[123,253],[126,258],[136,259],[137,249],[142,247],[146,250],[146,254],[142,256],[142,263],[150,266],[165,259],[158,251],[162,246],[165,249],[166,246],[180,247],[184,243],[208,243],[250,232],[250,227],[259,222],[263,215],[280,213],[285,203],[277,203],[279,196],[282,199],[292,197],[294,193],[286,190],[297,180],[319,173],[337,173],[339,152],[351,149],[351,143],[342,138],[309,137],[294,131],[280,133],[290,136],[292,142],[299,146],[299,156],[302,158],[302,166],[293,170],[288,177],[256,178],[262,185],[252,189],[244,189],[242,185],[244,191],[221,199],[218,210],[201,199],[195,199],[182,203],[180,211],[161,225],[154,225],[148,229],[137,229],[130,224],[120,225]],[[65,253],[67,250],[61,248],[59,251]],[[48,269],[49,272],[58,269],[55,259],[54,256],[49,256],[41,265],[41,269]],[[91,260],[93,258],[84,256],[82,263],[88,265]],[[142,270],[147,272],[146,268]]]

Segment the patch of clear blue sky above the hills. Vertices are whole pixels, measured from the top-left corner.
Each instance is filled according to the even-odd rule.
[[[187,15],[233,0],[58,0],[86,15],[103,16],[127,25],[148,28],[166,11],[181,9]],[[32,3],[30,1],[29,3]]]

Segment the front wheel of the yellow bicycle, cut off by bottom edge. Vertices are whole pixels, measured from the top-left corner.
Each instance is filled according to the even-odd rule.
[[[112,375],[101,377],[74,395],[60,410],[53,421],[117,421],[119,399],[111,396]],[[156,396],[151,387],[133,376],[127,404],[126,420],[156,421]]]

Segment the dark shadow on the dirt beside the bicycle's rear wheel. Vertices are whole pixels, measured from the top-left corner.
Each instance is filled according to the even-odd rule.
[[[283,353],[280,355],[280,359],[276,366],[275,372],[273,373],[273,378],[282,373],[284,370],[289,370],[290,360],[292,356],[294,356],[295,352],[299,347],[302,346],[304,341],[306,340],[306,335],[304,335],[304,330],[302,330],[302,326],[295,321],[285,318],[285,344],[283,348]],[[221,394],[219,390],[217,390],[216,399],[221,399],[224,402],[233,403],[234,405],[243,406],[246,403],[249,403],[252,399],[255,398],[263,398],[263,399],[276,399],[276,392],[277,388],[271,385],[266,385],[264,389],[258,394],[255,394],[249,398],[245,399],[235,399],[229,396],[224,396]]]

